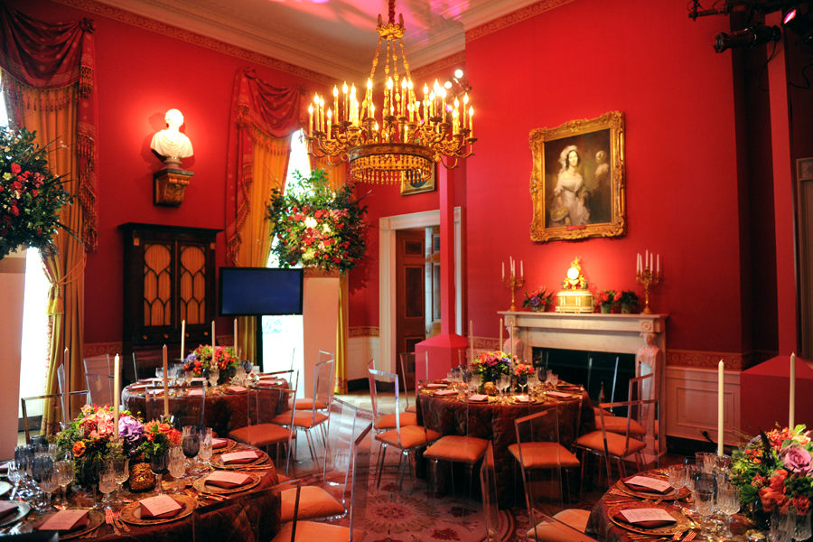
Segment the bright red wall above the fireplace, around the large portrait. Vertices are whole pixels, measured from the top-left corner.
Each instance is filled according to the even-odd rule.
[[[669,348],[740,351],[740,251],[731,60],[724,17],[680,3],[579,0],[467,43],[477,155],[468,164],[469,318],[497,336],[500,262],[557,288],[580,256],[593,285],[634,288],[636,253],[661,254],[653,292]],[[626,122],[628,232],[533,243],[528,133],[618,109]],[[482,332],[480,331],[482,330]]]

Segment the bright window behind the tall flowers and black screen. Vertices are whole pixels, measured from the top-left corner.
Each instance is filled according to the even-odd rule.
[[[288,160],[288,172],[285,175],[285,191],[295,190],[298,182],[294,172],[303,175],[311,173],[308,159],[308,145],[304,142],[302,130],[291,136],[291,156]],[[274,239],[276,243],[276,239]],[[279,260],[272,253],[268,257],[268,267],[278,267]],[[264,370],[304,369],[304,339],[302,316],[263,316],[263,365]],[[304,386],[300,380],[297,395],[303,393]]]

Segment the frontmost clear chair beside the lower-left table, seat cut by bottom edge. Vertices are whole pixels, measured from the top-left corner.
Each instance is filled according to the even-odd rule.
[[[294,519],[283,525],[283,528],[272,539],[272,542],[313,542],[313,540],[357,542],[364,537],[359,525],[363,523],[367,511],[371,435],[372,424],[368,423],[361,429],[359,436],[356,437],[352,444],[348,526],[344,527],[316,521],[300,521],[298,515],[301,499],[294,499]]]

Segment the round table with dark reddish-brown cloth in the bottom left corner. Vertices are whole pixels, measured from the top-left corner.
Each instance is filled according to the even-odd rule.
[[[257,450],[244,444],[229,442],[228,452],[238,452],[242,450]],[[218,454],[212,457],[212,463],[217,463]],[[243,542],[256,540],[270,540],[280,529],[280,501],[277,494],[264,491],[278,483],[274,463],[270,458],[262,464],[252,464],[245,468],[235,467],[233,472],[245,472],[254,475],[259,481],[246,491],[222,492],[214,494],[206,491],[199,491],[201,483],[192,483],[193,480],[208,476],[210,472],[205,471],[199,476],[191,479],[182,479],[177,483],[179,493],[171,493],[173,485],[176,483],[169,475],[164,477],[164,491],[168,494],[178,494],[182,498],[191,500],[194,510],[191,514],[178,518],[165,520],[154,525],[141,525],[126,521],[125,514],[121,514],[122,521],[114,525],[103,522],[98,528],[93,529],[83,537],[70,537],[62,534],[63,539],[85,539],[113,542],[156,542],[156,541],[211,541],[211,542]],[[135,502],[155,495],[154,491],[145,493],[122,491],[121,497],[126,502]],[[101,496],[99,495],[100,499]],[[86,495],[70,495],[69,508],[86,508],[92,505]],[[133,505],[130,505],[133,506]],[[122,509],[121,506],[113,507],[114,510]],[[104,514],[104,510],[94,512]],[[16,534],[29,532],[35,529],[50,513],[39,514],[34,509],[19,523],[14,524],[5,534]]]

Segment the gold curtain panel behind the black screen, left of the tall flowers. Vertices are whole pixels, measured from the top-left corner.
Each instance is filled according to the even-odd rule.
[[[265,267],[271,253],[271,223],[266,220],[266,205],[271,190],[283,190],[288,159],[291,155],[290,137],[273,137],[256,127],[252,133],[253,162],[243,172],[248,184],[248,216],[238,229],[242,240],[237,250],[235,265],[239,267]],[[238,318],[238,348],[242,359],[257,360],[257,324],[259,317]]]

